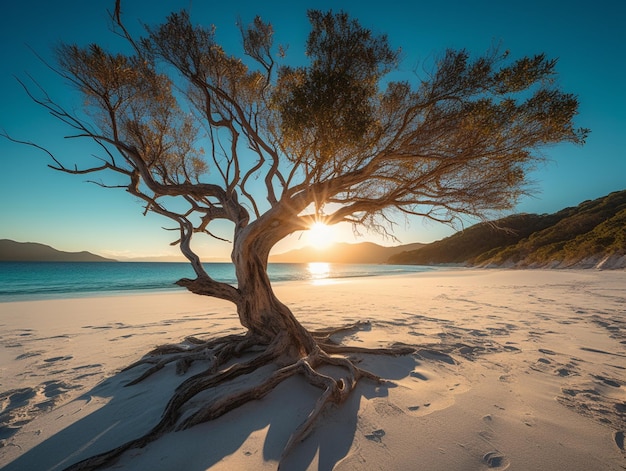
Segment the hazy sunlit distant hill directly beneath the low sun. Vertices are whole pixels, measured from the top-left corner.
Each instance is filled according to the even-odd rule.
[[[383,247],[371,242],[358,244],[338,243],[325,249],[306,247],[282,254],[271,255],[271,263],[385,263],[389,257],[407,250],[415,250],[424,244],[408,244]]]

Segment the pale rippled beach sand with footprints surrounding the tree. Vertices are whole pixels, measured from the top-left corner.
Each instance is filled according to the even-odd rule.
[[[420,347],[364,356],[362,367],[391,382],[363,381],[328,407],[281,469],[626,469],[625,288],[621,270],[454,269],[278,284],[307,327],[369,319],[343,342]],[[185,377],[166,367],[124,387],[138,372],[120,370],[158,344],[242,331],[231,305],[186,292],[3,303],[0,329],[7,471],[60,470],[138,436]],[[291,378],[212,423],[125,453],[112,469],[276,469],[318,396]]]

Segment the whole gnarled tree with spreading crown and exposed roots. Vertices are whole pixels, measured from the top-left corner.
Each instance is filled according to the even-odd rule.
[[[100,146],[97,164],[72,174],[113,172],[145,211],[175,223],[176,243],[196,277],[178,284],[232,302],[246,333],[158,348],[131,367],[150,365],[133,383],[176,362],[208,360],[203,373],[181,383],[161,422],[145,436],[70,469],[108,463],[163,433],[216,418],[262,397],[301,374],[323,393],[285,452],[302,440],[329,403],[342,402],[362,379],[381,378],[342,354],[406,354],[411,346],[368,350],[337,345],[330,335],[353,326],[306,330],[277,299],[267,275],[271,248],[315,222],[349,222],[392,235],[400,215],[452,223],[459,215],[486,217],[511,208],[526,191],[527,171],[541,149],[583,143],[575,129],[576,97],[555,82],[556,61],[540,54],[518,60],[497,50],[473,58],[446,51],[424,77],[389,79],[399,51],[346,13],[309,11],[308,64],[279,65],[269,23],[240,25],[243,54],[230,56],[213,28],[188,13],[171,14],[144,37],[111,15],[129,44],[125,53],[93,44],[57,49],[57,72],[81,94],[85,113],[70,112],[45,92],[33,100],[74,129],[73,137]],[[204,146],[204,150],[200,147]],[[36,144],[32,144],[35,145]],[[262,192],[261,192],[262,190]],[[262,193],[263,198],[260,198]],[[199,233],[214,236],[218,221],[232,224],[237,285],[211,278],[192,247]],[[215,236],[217,237],[217,236]],[[245,352],[251,360],[225,367]],[[262,365],[266,381],[205,404],[181,419],[198,392]],[[344,374],[330,377],[323,365]]]

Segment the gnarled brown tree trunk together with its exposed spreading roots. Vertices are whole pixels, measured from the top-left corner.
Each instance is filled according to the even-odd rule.
[[[205,368],[180,383],[165,407],[161,420],[144,435],[74,463],[66,471],[92,470],[108,465],[127,450],[144,447],[164,433],[221,417],[241,404],[265,396],[285,379],[302,375],[310,384],[320,388],[322,393],[306,420],[287,440],[284,457],[311,431],[326,404],[345,401],[362,378],[378,383],[382,381],[377,375],[359,368],[352,360],[341,355],[403,355],[414,352],[414,348],[402,346],[374,350],[342,346],[330,339],[334,333],[359,329],[363,323],[309,332],[296,320],[289,308],[274,294],[267,273],[269,251],[290,227],[293,229],[293,226],[281,225],[281,221],[275,218],[269,220],[269,223],[267,218],[260,218],[235,231],[232,261],[237,275],[237,288],[216,282],[208,275],[199,274],[195,280],[180,280],[179,284],[194,293],[234,302],[240,322],[248,332],[206,340],[187,337],[183,344],[157,347],[148,356],[130,365],[127,369],[141,365],[149,367],[127,386],[143,381],[174,362],[179,374],[185,374],[194,361],[204,362]],[[241,358],[245,352],[252,355]],[[233,360],[235,362],[230,364]],[[198,393],[217,388],[270,364],[275,368],[260,384],[255,383],[242,390],[217,395],[206,403],[190,406],[190,400]],[[338,367],[341,373],[335,376],[320,373],[318,370],[324,365]]]

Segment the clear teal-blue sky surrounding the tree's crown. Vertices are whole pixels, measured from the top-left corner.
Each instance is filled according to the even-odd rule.
[[[545,52],[559,59],[563,89],[580,100],[577,124],[592,133],[584,147],[568,144],[546,149],[548,162],[531,175],[535,195],[523,199],[516,212],[554,212],[626,188],[624,2],[126,0],[123,4],[126,22],[132,26],[139,21],[154,24],[171,11],[190,8],[195,20],[217,26],[218,39],[231,53],[240,50],[236,19],[247,22],[260,14],[273,23],[277,42],[289,45],[289,57],[301,60],[308,33],[307,8],[343,9],[365,26],[387,33],[392,45],[402,48],[406,71],[419,69],[448,47],[479,54],[501,44],[513,57]],[[42,65],[33,50],[50,59],[52,47],[59,42],[115,46],[118,39],[110,33],[106,16],[113,5],[113,0],[3,3],[0,128],[15,138],[49,147],[67,164],[84,161],[89,146],[63,139],[68,130],[34,105],[14,76],[30,73],[53,98],[80,107],[76,95]],[[124,191],[54,172],[48,163],[45,154],[0,139],[0,238],[114,257],[177,254],[168,245],[172,233],[161,229],[168,221],[156,215],[143,217],[141,205]],[[451,232],[415,220],[408,227],[400,221],[397,235],[402,243],[430,242]],[[355,240],[349,230],[337,237],[381,242],[371,237]],[[305,236],[291,236],[278,251],[305,241]],[[224,257],[228,246],[206,241],[201,251],[205,256]]]

